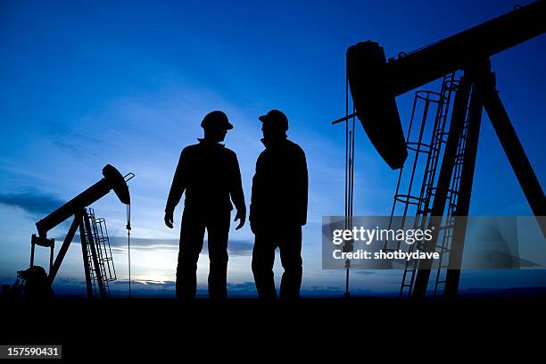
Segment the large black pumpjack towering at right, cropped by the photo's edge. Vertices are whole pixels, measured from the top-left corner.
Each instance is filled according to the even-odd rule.
[[[546,30],[545,19],[546,2],[540,0],[517,6],[512,12],[409,54],[401,53],[397,59],[391,58],[388,62],[383,47],[369,40],[352,45],[347,50],[347,80],[355,112],[349,114],[347,111],[347,116],[333,123],[358,117],[378,153],[393,169],[401,168],[408,156],[395,97],[457,70],[464,71],[455,96],[441,170],[434,188],[434,203],[428,211],[429,216],[435,218],[429,220],[428,227],[440,224],[437,218],[443,216],[446,207],[459,136],[467,119],[467,104],[470,99],[467,145],[455,215],[467,216],[469,211],[481,111],[484,108],[516,173],[525,198],[537,217],[542,234],[546,236],[543,219],[538,219],[546,215],[546,198],[501,103],[490,62],[492,55],[542,35]],[[434,238],[424,246],[427,252],[434,251],[438,231],[436,230]],[[451,244],[450,267],[460,267],[466,227],[459,227],[455,231],[457,236],[454,236]],[[419,262],[417,278],[412,283],[412,297],[425,297],[431,268],[432,261]],[[446,296],[457,294],[459,275],[459,269],[448,269],[444,291]]]

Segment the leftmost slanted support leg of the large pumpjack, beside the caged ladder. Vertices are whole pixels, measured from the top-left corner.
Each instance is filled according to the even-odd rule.
[[[453,167],[457,156],[459,136],[467,116],[467,103],[470,94],[470,86],[471,82],[465,74],[460,80],[459,90],[455,95],[450,132],[448,134],[445,152],[443,153],[442,167],[440,169],[440,175],[438,177],[438,183],[435,190],[434,202],[431,211],[432,218],[428,224],[428,228],[434,227],[433,238],[425,244],[424,250],[426,252],[434,252],[436,242],[438,241],[438,234],[440,232],[439,227],[442,224],[443,211],[445,210],[448,189],[451,184]],[[432,263],[432,260],[419,261],[418,273],[411,298],[425,298]]]

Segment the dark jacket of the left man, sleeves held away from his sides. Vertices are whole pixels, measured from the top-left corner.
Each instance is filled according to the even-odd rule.
[[[184,191],[185,208],[194,211],[246,211],[241,172],[236,153],[224,145],[198,139],[188,145],[178,161],[165,211],[174,211]]]

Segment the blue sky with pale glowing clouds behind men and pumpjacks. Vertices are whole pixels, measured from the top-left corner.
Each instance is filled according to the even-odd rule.
[[[235,128],[226,144],[238,154],[248,201],[262,149],[257,116],[277,108],[288,116],[289,137],[302,145],[309,162],[303,286],[309,292],[337,292],[343,272],[320,268],[320,221],[323,215],[343,214],[343,128],[329,121],[344,113],[346,48],[372,39],[385,47],[387,57],[395,56],[513,5],[499,0],[2,2],[2,283],[11,283],[16,270],[28,266],[37,219],[95,183],[106,163],[136,174],[130,182],[133,277],[144,283],[172,281],[178,227],[164,227],[162,211],[181,148],[202,135],[205,113],[227,112]],[[542,183],[545,45],[542,36],[492,58],[502,100]],[[404,128],[412,100],[411,94],[397,99]],[[355,214],[388,214],[396,177],[360,128]],[[124,207],[113,194],[94,207],[113,236],[119,277],[127,279]],[[178,207],[177,223],[180,213]],[[471,214],[530,213],[485,117]],[[60,227],[51,236],[64,234]],[[228,278],[234,292],[236,285],[252,282],[251,249],[248,227],[232,231]],[[38,254],[38,260],[45,257]],[[58,277],[79,279],[80,266],[79,249],[72,247]],[[203,286],[206,256],[199,267]],[[546,284],[543,275],[510,277],[507,286]],[[463,277],[462,283],[490,281]],[[352,280],[355,289],[372,294],[396,290],[399,283],[400,272],[362,272]]]

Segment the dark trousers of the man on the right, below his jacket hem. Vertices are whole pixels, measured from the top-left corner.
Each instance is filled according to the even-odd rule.
[[[256,232],[252,250],[252,273],[261,299],[276,299],[273,264],[275,250],[279,249],[285,272],[281,279],[279,297],[300,297],[302,285],[302,227],[298,224],[286,227],[262,227]]]

